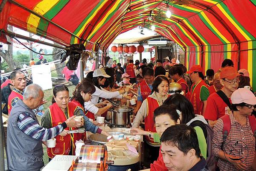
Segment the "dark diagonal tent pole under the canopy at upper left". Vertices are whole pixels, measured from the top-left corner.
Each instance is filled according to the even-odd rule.
[[[27,12],[30,12],[31,14],[34,14],[35,16],[41,18],[42,20],[46,20],[47,22],[53,24],[54,26],[56,26],[56,27],[58,27],[58,28],[64,30],[65,32],[69,33],[70,35],[73,35],[73,36],[75,36],[76,38],[78,38],[79,40],[81,40],[81,38],[79,38],[77,35],[73,34],[72,32],[68,31],[67,29],[64,29],[64,28],[61,27],[60,25],[58,25],[58,24],[52,22],[52,20],[49,20],[48,18],[46,18],[46,17],[44,17],[44,16],[41,16],[40,14],[38,14],[38,13],[32,11],[31,9],[28,9],[26,6],[23,6],[23,5],[21,5],[20,3],[17,3],[15,0],[9,0],[9,2],[10,2],[10,3],[13,3],[14,5],[16,5],[16,6],[22,8],[22,9],[24,9],[24,10],[26,10]]]

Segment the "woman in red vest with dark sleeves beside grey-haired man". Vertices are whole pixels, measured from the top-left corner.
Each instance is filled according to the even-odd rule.
[[[95,91],[95,88],[90,87],[87,89],[88,93],[81,93],[83,99],[90,100],[90,94]],[[84,111],[81,107],[74,103],[69,103],[69,91],[65,85],[57,85],[53,88],[53,98],[52,105],[45,111],[42,118],[42,127],[52,128],[59,123],[67,120],[72,116],[83,116],[84,118],[84,128],[86,131],[92,133],[102,133],[109,136],[108,133],[102,131],[96,125],[84,115]],[[76,151],[75,143],[79,139],[85,138],[85,133],[68,133],[69,130],[76,130],[79,128],[66,128],[58,136],[56,136],[56,146],[54,148],[47,148],[47,154],[49,160],[51,160],[55,155],[74,155]]]

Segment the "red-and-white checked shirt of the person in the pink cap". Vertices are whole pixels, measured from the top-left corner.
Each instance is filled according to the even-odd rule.
[[[253,131],[250,127],[249,119],[247,117],[246,124],[241,126],[240,123],[235,120],[233,113],[231,113],[230,122],[230,132],[224,143],[222,133],[224,124],[222,119],[218,119],[217,123],[214,125],[212,151],[215,156],[218,156],[219,152],[222,151],[221,146],[223,143],[223,150],[225,154],[243,158],[242,160],[244,160],[244,164],[246,165],[245,171],[252,171],[256,143]],[[220,171],[237,171],[233,164],[222,159],[218,159],[218,167],[220,168]]]

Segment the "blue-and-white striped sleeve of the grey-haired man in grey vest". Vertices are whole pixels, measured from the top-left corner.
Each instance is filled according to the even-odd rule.
[[[17,119],[17,126],[23,133],[26,133],[28,136],[34,139],[40,139],[42,141],[47,141],[48,139],[54,138],[65,129],[64,124],[57,125],[49,129],[43,128],[32,118],[29,113],[26,112],[20,113]]]

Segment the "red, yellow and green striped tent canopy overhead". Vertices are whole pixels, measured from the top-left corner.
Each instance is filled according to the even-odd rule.
[[[117,35],[137,26],[175,41],[186,67],[215,71],[231,59],[256,87],[256,0],[0,0],[0,29],[7,25],[68,46],[103,51]],[[172,12],[165,17],[167,7]],[[0,41],[6,37],[0,35]]]

